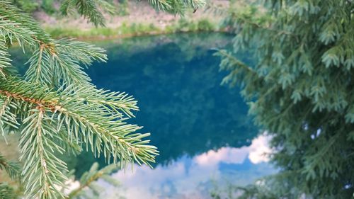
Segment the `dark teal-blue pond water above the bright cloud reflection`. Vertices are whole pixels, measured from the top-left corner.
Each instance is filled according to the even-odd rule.
[[[246,117],[239,89],[220,86],[225,73],[219,72],[219,57],[212,56],[211,48],[224,47],[230,38],[212,36],[135,38],[127,49],[106,47],[108,63],[87,71],[98,88],[125,91],[137,99],[140,110],[128,121],[152,132],[152,144],[161,152],[158,164],[183,154],[242,147],[258,132]],[[183,39],[201,43],[189,45]],[[152,40],[151,46],[139,48],[144,40]]]

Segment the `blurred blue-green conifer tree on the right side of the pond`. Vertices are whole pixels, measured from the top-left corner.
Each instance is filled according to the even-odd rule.
[[[233,8],[226,21],[236,33],[233,52],[217,52],[230,72],[224,83],[241,86],[249,112],[273,137],[271,157],[280,168],[277,178],[248,188],[248,198],[352,197],[353,2]],[[234,56],[250,49],[254,65]],[[276,196],[265,197],[264,188]]]

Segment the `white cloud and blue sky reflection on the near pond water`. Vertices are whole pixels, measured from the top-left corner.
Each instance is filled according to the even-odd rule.
[[[105,187],[102,198],[207,198],[211,180],[222,183],[232,181],[238,185],[252,183],[275,170],[268,164],[264,153],[270,152],[269,137],[261,135],[249,147],[222,147],[195,157],[182,157],[165,166],[135,166],[134,171],[118,171],[112,176],[122,182],[122,187]]]

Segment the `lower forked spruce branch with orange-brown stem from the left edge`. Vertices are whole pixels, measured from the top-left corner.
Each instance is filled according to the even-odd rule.
[[[0,83],[0,95],[23,104],[21,110],[25,110],[18,114],[25,125],[21,130],[21,159],[32,157],[25,159],[23,170],[28,195],[50,198],[59,194],[58,187],[64,186],[65,179],[61,171],[66,169],[54,154],[64,152],[60,146],[84,143],[96,155],[103,153],[108,162],[111,157],[114,163],[120,160],[121,166],[132,161],[150,165],[158,154],[156,147],[142,140],[149,134],[134,133],[141,127],[123,122],[119,110],[132,115],[130,110],[137,109],[136,101],[124,93],[97,91],[93,86],[76,91],[67,87],[58,91],[59,97],[45,86],[28,90],[33,85],[25,81],[7,79]],[[62,136],[64,130],[67,137]],[[33,181],[42,183],[33,186]]]

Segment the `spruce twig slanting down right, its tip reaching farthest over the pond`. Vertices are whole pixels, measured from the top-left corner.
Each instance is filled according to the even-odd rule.
[[[108,162],[111,157],[114,163],[120,159],[122,166],[134,160],[138,164],[147,165],[150,165],[149,161],[154,162],[154,156],[158,154],[156,147],[146,145],[149,143],[148,140],[142,141],[149,133],[132,134],[141,127],[127,125],[122,123],[122,120],[110,120],[110,115],[106,113],[94,113],[92,110],[86,111],[82,108],[83,106],[77,104],[57,109],[63,115],[62,118],[58,116],[58,120],[65,120],[72,126],[71,129],[68,128],[69,137],[79,137],[81,130],[79,138],[86,143],[86,147],[91,144],[92,152],[98,157],[103,152]],[[106,119],[103,120],[104,118]]]

